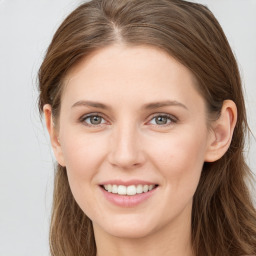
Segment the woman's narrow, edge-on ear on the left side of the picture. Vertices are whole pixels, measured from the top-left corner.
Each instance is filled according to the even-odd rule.
[[[65,166],[64,156],[61,148],[61,144],[58,137],[57,127],[55,126],[52,118],[52,107],[49,104],[44,105],[44,117],[45,123],[50,135],[52,149],[56,160],[61,166]]]

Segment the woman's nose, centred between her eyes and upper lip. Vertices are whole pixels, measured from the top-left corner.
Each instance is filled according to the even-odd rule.
[[[135,126],[124,124],[113,130],[109,162],[120,169],[132,169],[145,161],[140,132]]]

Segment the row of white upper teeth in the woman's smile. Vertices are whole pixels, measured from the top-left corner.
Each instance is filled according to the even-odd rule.
[[[131,185],[131,186],[123,186],[123,185],[104,185],[106,191],[118,194],[118,195],[128,195],[133,196],[136,194],[146,193],[154,189],[156,185]]]

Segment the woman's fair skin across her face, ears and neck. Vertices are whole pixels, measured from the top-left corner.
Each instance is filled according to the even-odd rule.
[[[112,45],[70,70],[58,124],[50,105],[44,114],[56,159],[93,222],[98,256],[193,255],[193,195],[204,162],[230,145],[232,101],[209,128],[205,101],[186,67],[154,47]],[[133,195],[102,186],[133,182],[154,188],[132,205],[123,202]],[[118,205],[108,195],[124,200]]]

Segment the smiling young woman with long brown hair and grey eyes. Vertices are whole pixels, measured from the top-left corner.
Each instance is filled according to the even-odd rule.
[[[52,255],[256,254],[241,80],[206,7],[85,3],[39,87],[58,162]]]

